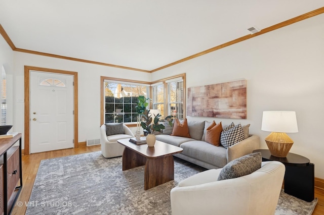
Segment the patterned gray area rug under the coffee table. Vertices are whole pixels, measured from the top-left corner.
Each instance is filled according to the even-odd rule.
[[[174,181],[146,191],[144,167],[121,171],[121,157],[101,151],[42,160],[26,214],[171,214],[170,190],[206,170],[174,160]],[[316,202],[282,192],[276,214],[311,214]]]

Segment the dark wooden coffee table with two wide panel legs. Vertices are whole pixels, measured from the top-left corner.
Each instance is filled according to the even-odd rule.
[[[172,154],[183,148],[156,140],[154,147],[147,144],[136,145],[129,139],[117,141],[125,146],[123,152],[123,171],[145,165],[144,190],[174,179],[174,160]]]

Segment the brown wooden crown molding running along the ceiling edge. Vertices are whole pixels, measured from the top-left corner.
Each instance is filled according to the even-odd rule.
[[[311,11],[311,12],[308,12],[306,14],[300,15],[298,17],[295,17],[295,18],[286,20],[284,22],[280,22],[278,24],[272,25],[272,26],[270,26],[268,28],[262,29],[260,32],[257,32],[255,34],[245,35],[245,36],[239,37],[237,39],[234,39],[232,41],[225,42],[225,43],[223,43],[221,45],[217,45],[217,46],[212,47],[212,48],[209,48],[207,50],[198,52],[198,53],[196,53],[194,55],[191,55],[189,57],[186,57],[186,58],[183,58],[181,60],[175,61],[173,63],[167,64],[165,66],[156,68],[156,69],[151,70],[151,71],[149,71],[149,70],[142,70],[142,69],[136,69],[136,68],[132,68],[132,67],[124,67],[124,66],[119,66],[119,65],[114,65],[114,64],[107,64],[107,63],[96,62],[96,61],[89,61],[89,60],[78,59],[78,58],[65,57],[65,56],[60,56],[60,55],[53,55],[51,53],[44,53],[44,52],[27,50],[27,49],[22,49],[22,48],[17,48],[14,45],[14,43],[11,41],[10,37],[8,36],[8,34],[6,33],[5,29],[2,27],[1,24],[0,24],[0,34],[4,37],[4,39],[7,41],[7,43],[11,47],[11,49],[14,50],[14,51],[20,51],[20,52],[25,52],[25,53],[31,53],[33,55],[41,55],[41,56],[46,56],[46,57],[59,58],[59,59],[70,60],[70,61],[77,61],[77,62],[83,62],[83,63],[89,63],[89,64],[97,64],[97,65],[107,66],[107,67],[115,67],[115,68],[119,68],[119,69],[127,69],[127,70],[139,71],[139,72],[153,73],[153,72],[156,72],[156,71],[159,71],[159,70],[162,70],[162,69],[165,69],[165,68],[174,66],[176,64],[180,64],[182,62],[189,61],[189,60],[191,60],[193,58],[197,58],[199,56],[206,55],[207,53],[210,53],[210,52],[216,51],[218,49],[221,49],[221,48],[224,48],[224,47],[233,45],[235,43],[238,43],[238,42],[241,42],[241,41],[244,41],[244,40],[247,40],[247,39],[251,39],[253,37],[256,37],[256,36],[259,36],[259,35],[268,33],[270,31],[273,31],[273,30],[276,30],[276,29],[279,29],[279,28],[282,28],[282,27],[285,27],[285,26],[294,24],[296,22],[299,22],[299,21],[302,21],[302,20],[305,20],[305,19],[308,19],[308,18],[317,16],[317,15],[322,14],[322,13],[324,13],[324,7],[319,8],[319,9],[316,9],[316,10]]]

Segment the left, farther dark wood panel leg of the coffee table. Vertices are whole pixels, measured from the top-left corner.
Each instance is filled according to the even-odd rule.
[[[145,163],[146,157],[125,147],[123,152],[123,170],[129,170],[135,167],[140,167],[145,165]]]

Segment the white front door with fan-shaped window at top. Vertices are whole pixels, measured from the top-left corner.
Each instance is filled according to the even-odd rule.
[[[30,153],[73,148],[73,76],[30,72]]]

